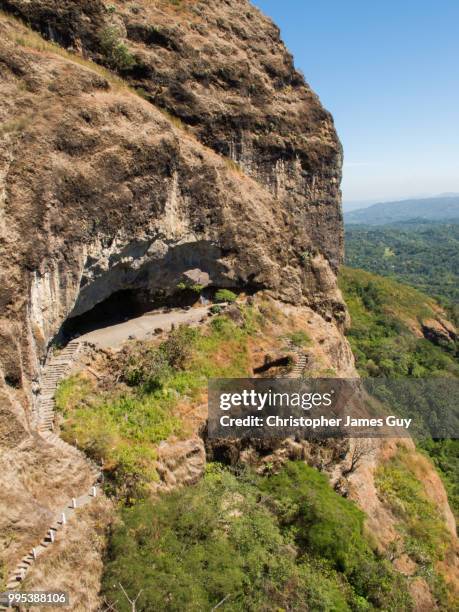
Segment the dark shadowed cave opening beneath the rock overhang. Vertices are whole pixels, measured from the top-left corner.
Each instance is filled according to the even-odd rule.
[[[146,256],[149,248],[151,244],[147,242],[130,243],[117,257],[112,257],[109,269],[102,274],[95,261],[88,260],[73,311],[54,342],[65,345],[78,336],[147,314],[163,315],[169,310],[211,305],[220,289],[235,296],[241,293],[251,296],[263,289],[254,274],[230,279],[223,261],[225,254],[209,241],[175,245],[167,249],[160,261]],[[138,261],[141,258],[144,261]],[[234,296],[228,296],[229,302],[233,299]],[[143,327],[143,322],[137,323],[132,328]],[[160,319],[161,323],[164,319]]]

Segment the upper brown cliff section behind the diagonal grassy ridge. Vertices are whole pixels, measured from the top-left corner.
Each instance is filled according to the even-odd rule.
[[[247,0],[3,4],[46,38],[118,69],[201,143],[237,162],[295,226],[288,238],[297,253],[318,250],[336,270],[342,152],[333,120],[278,28]],[[132,65],[107,48],[115,32]]]

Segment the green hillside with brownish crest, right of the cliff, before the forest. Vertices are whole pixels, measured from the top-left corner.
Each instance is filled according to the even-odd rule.
[[[426,321],[443,320],[435,300],[391,279],[346,267],[340,285],[352,319],[347,335],[361,376],[459,377],[455,333],[448,340],[426,332]],[[437,466],[458,517],[459,441],[424,439],[418,444]]]

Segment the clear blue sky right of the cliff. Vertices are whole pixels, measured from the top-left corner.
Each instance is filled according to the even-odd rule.
[[[459,0],[254,0],[333,113],[343,198],[459,192]]]

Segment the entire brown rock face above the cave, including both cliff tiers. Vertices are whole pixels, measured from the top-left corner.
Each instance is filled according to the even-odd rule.
[[[114,44],[135,64],[120,70],[143,96],[1,18],[10,387],[69,315],[122,290],[172,293],[190,270],[345,319],[341,147],[269,20],[245,0],[2,6],[99,62],[113,63],[107,28],[125,35]]]

